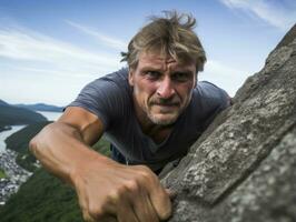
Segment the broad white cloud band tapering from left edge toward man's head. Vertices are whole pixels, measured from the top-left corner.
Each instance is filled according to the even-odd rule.
[[[56,67],[100,67],[114,69],[119,58],[90,52],[73,44],[27,29],[0,29],[0,57],[51,63]]]

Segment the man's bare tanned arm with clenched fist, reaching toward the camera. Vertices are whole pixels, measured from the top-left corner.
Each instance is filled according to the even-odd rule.
[[[103,125],[81,108],[68,108],[30,142],[46,169],[70,183],[87,221],[159,221],[171,212],[169,196],[146,167],[126,167],[89,149]]]

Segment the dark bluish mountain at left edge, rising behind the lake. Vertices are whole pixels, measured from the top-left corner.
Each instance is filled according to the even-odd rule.
[[[30,124],[42,121],[47,121],[42,114],[0,100],[0,131],[7,125]]]

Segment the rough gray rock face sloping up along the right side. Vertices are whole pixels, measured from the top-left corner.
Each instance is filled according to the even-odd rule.
[[[296,221],[296,24],[161,182],[169,221]]]

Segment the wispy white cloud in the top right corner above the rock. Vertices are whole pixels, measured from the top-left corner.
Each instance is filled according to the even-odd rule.
[[[296,22],[296,1],[282,0],[220,0],[230,9],[250,12],[270,26],[287,30]]]

